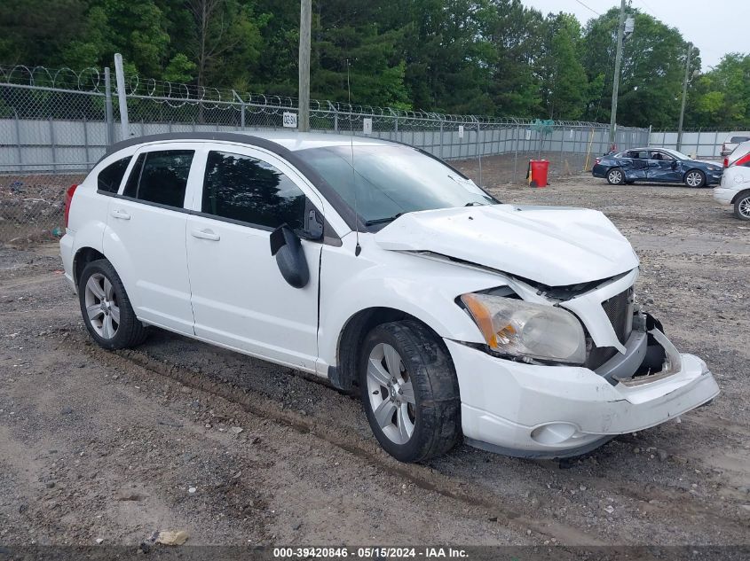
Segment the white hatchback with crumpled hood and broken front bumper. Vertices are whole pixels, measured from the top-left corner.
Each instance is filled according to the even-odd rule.
[[[352,167],[353,161],[353,167]],[[154,325],[359,392],[401,461],[575,456],[719,393],[594,210],[501,204],[426,152],[296,132],[114,145],[68,193],[91,337]]]

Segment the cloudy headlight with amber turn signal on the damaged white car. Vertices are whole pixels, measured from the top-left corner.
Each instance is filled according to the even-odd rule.
[[[583,328],[570,312],[489,294],[464,294],[461,300],[493,351],[575,364],[586,360]]]

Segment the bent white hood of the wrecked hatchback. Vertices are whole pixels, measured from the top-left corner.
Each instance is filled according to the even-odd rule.
[[[468,206],[404,214],[375,234],[392,251],[432,252],[566,286],[614,277],[638,265],[604,214],[561,206]]]

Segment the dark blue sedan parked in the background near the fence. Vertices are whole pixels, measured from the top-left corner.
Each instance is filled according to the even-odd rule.
[[[704,187],[721,183],[722,171],[719,164],[692,160],[669,148],[632,148],[596,158],[591,173],[604,177],[611,185],[641,181]]]

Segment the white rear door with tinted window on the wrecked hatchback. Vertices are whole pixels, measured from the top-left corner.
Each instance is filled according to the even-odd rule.
[[[127,181],[109,202],[104,252],[122,277],[136,315],[193,334],[187,276],[186,210],[194,143],[136,152]]]

